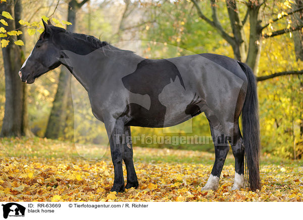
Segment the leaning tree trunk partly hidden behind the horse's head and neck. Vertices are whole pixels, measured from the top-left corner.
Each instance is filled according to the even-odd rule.
[[[67,31],[74,32],[76,27],[76,13],[79,9],[79,4],[76,0],[69,2],[67,20],[72,25],[67,26]],[[51,115],[48,118],[48,123],[45,131],[45,137],[58,139],[65,137],[65,129],[74,129],[74,110],[71,94],[71,77],[72,75],[65,66],[61,67],[59,75],[58,89],[53,102]],[[66,127],[68,126],[68,128]],[[73,136],[65,137],[73,139]]]

